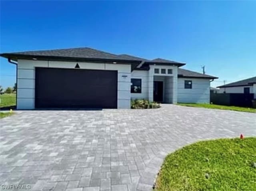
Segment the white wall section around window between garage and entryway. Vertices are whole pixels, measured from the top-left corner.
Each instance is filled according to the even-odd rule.
[[[141,94],[131,93],[132,99],[148,99],[148,71],[134,70],[132,71],[131,78],[141,79]]]

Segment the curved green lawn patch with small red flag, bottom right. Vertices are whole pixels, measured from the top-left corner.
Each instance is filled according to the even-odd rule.
[[[256,137],[200,141],[167,155],[156,190],[256,190]]]

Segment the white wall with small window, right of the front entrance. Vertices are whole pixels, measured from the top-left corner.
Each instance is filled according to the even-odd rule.
[[[192,81],[192,89],[184,88],[184,81]],[[178,78],[178,103],[210,103],[210,80]]]

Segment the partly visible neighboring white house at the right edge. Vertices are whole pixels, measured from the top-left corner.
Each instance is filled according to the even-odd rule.
[[[245,80],[240,80],[238,82],[225,84],[223,86],[218,86],[217,88],[220,88],[220,91],[218,93],[254,94],[255,97],[256,76],[252,78],[247,78]]]

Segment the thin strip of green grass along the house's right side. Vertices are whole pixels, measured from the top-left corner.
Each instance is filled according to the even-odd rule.
[[[215,104],[208,104],[208,103],[177,103],[177,105],[189,106],[189,107],[204,107],[204,108],[209,108],[209,109],[225,109],[225,110],[244,111],[244,112],[256,113],[256,109],[248,108],[248,107],[215,105]]]

